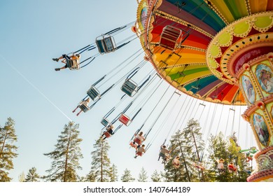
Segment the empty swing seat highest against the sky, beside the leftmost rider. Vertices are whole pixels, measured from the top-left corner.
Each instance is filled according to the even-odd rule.
[[[96,39],[97,48],[102,55],[116,50],[116,43],[112,36],[104,35]]]

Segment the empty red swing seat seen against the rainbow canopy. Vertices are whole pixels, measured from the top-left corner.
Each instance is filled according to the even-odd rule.
[[[167,25],[163,28],[160,45],[169,50],[176,50],[181,44],[181,29]]]

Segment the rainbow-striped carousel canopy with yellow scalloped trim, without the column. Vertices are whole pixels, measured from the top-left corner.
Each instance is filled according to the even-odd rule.
[[[245,105],[236,80],[240,60],[272,45],[232,55],[273,38],[272,10],[271,0],[143,0],[135,31],[145,58],[169,84],[209,102]]]

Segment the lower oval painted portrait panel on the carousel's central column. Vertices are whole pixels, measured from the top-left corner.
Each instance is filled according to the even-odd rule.
[[[254,113],[253,115],[253,126],[260,144],[262,144],[262,146],[267,146],[269,141],[269,132],[264,118],[262,118],[258,113]]]

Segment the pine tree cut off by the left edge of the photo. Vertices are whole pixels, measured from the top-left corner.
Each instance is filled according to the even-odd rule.
[[[14,128],[15,122],[8,118],[4,127],[0,127],[0,181],[9,182],[8,171],[13,169],[13,158],[18,156],[15,151],[18,147],[14,145],[17,135]]]

